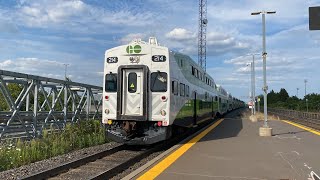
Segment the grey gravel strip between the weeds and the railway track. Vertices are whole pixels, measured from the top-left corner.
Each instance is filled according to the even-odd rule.
[[[0,172],[0,179],[22,179],[24,177],[27,177],[31,174],[35,174],[40,171],[45,171],[50,168],[59,166],[63,163],[71,162],[76,159],[83,158],[84,156],[88,156],[91,154],[95,154],[97,152],[102,152],[106,149],[112,149],[114,147],[117,147],[121,144],[116,142],[110,142],[98,146],[88,147],[80,150],[76,150],[64,155],[52,157],[50,159],[45,159],[42,161],[38,161],[35,163],[31,163],[29,165],[24,165],[19,168],[7,170]]]

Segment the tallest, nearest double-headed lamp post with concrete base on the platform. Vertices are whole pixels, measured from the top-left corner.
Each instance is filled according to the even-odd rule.
[[[268,112],[267,112],[267,51],[266,51],[266,14],[275,14],[275,11],[260,11],[253,12],[251,15],[262,15],[262,58],[263,58],[263,108],[264,108],[264,125],[260,129],[260,136],[271,136],[271,128],[268,126]]]

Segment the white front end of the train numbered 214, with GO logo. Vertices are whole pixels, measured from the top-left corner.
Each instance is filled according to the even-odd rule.
[[[106,51],[103,123],[118,142],[152,144],[170,137],[168,48],[135,40]]]

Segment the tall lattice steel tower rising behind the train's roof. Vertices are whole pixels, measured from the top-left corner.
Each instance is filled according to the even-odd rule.
[[[206,72],[207,68],[207,0],[199,0],[198,64]]]

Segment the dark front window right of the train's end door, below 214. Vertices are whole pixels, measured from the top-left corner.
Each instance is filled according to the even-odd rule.
[[[167,92],[167,73],[165,72],[151,73],[151,91]]]

